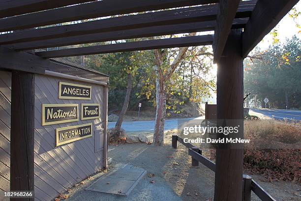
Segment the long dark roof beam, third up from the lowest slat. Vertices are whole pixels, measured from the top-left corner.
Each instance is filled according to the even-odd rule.
[[[249,1],[242,1],[236,14],[236,18],[249,17],[254,6],[255,3],[250,3]],[[174,25],[191,22],[212,21],[216,19],[216,14],[217,8],[216,5],[213,4],[138,15],[128,15],[73,25],[64,25],[37,30],[1,34],[0,44],[3,45],[26,41],[28,42],[51,38],[84,35],[90,33],[129,30],[161,26],[166,24]]]

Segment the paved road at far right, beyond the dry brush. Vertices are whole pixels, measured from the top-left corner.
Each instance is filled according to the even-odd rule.
[[[264,115],[276,120],[301,120],[301,110],[250,108],[249,114]]]

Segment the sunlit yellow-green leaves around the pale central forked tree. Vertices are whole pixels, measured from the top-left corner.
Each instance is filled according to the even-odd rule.
[[[165,73],[177,56],[179,48],[164,49],[161,52],[164,53],[162,70]],[[171,78],[166,81],[167,116],[173,113],[182,113],[184,106],[189,102],[201,102],[202,99],[211,97],[211,94],[215,91],[215,77],[208,76],[212,69],[211,55],[211,50],[206,46],[191,47],[187,50],[186,56],[179,67],[177,67]],[[140,97],[145,96],[155,106],[156,77],[153,53],[148,61],[150,66],[143,68]]]

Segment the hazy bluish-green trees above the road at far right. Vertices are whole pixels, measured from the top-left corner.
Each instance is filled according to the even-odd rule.
[[[273,108],[301,106],[301,41],[294,36],[285,44],[274,44],[264,52],[257,51],[245,62],[244,89],[247,100],[263,106],[268,97]],[[255,58],[255,59],[254,59]],[[286,102],[286,98],[288,102]]]

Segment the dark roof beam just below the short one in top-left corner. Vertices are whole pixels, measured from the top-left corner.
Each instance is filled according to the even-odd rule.
[[[219,0],[101,0],[0,19],[0,32],[148,10],[216,3],[218,1]]]

